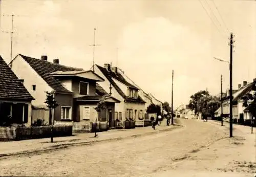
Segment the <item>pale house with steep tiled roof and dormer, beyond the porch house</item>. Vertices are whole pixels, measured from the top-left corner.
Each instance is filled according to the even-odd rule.
[[[115,105],[115,120],[144,120],[145,101],[138,95],[139,88],[128,82],[117,68],[112,69],[108,63],[104,67],[95,64],[94,69],[104,79],[99,85],[121,101]]]

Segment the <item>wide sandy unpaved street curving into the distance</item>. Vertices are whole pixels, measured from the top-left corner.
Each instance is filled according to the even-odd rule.
[[[243,158],[246,150],[229,151],[223,145],[230,143],[228,147],[233,148],[244,143],[245,138],[233,139],[236,142],[233,143],[227,139],[228,127],[199,120],[181,121],[184,128],[155,135],[3,159],[0,160],[0,175],[193,176],[197,173],[195,176],[252,176],[256,172],[254,152]],[[234,159],[233,153],[240,157]],[[236,167],[242,163],[241,159],[244,166]],[[227,167],[232,165],[229,170]]]

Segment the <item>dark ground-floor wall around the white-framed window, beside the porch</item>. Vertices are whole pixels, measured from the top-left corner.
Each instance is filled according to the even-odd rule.
[[[58,107],[54,109],[54,120],[61,121],[61,106],[70,106],[71,107],[71,120],[73,120],[74,110],[73,110],[73,95],[70,94],[54,94],[54,99],[58,103]]]

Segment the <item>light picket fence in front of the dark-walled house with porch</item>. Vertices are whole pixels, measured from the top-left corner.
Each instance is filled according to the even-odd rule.
[[[73,125],[74,131],[91,131],[92,123],[91,122],[62,122],[62,121],[54,121],[54,125]]]

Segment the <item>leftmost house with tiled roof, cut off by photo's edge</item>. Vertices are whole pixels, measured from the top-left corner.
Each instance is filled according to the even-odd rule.
[[[34,98],[0,56],[0,126],[31,125]]]

